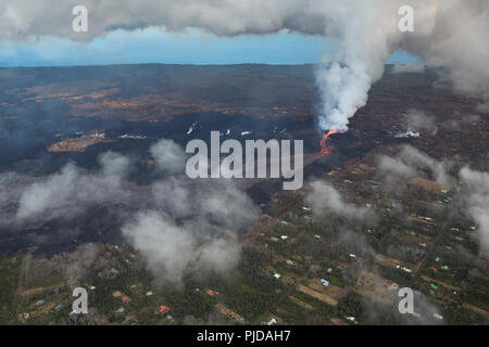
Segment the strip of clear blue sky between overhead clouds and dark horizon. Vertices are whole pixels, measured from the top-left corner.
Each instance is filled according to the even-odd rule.
[[[0,41],[0,66],[305,64],[316,63],[323,53],[333,52],[334,44],[322,37],[289,31],[223,38],[198,30],[174,34],[152,27],[116,30],[85,43],[57,37]],[[396,52],[389,63],[394,61],[418,63],[405,52]]]

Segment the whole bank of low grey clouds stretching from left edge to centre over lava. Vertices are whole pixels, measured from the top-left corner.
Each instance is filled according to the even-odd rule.
[[[121,216],[123,236],[141,252],[158,283],[180,286],[187,274],[227,273],[239,260],[239,232],[260,216],[260,209],[231,181],[192,181],[179,175],[186,156],[175,142],[161,140],[150,153],[155,174],[171,176],[149,187],[130,183],[131,160],[113,152],[99,156],[96,171],[67,164],[34,183],[9,182],[10,189],[1,187],[0,206],[16,208],[2,210],[2,219],[22,229],[67,221],[108,205]]]

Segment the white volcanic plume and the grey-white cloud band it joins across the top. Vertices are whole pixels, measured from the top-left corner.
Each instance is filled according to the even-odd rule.
[[[89,40],[114,29],[149,26],[166,30],[200,28],[215,35],[264,35],[279,30],[321,35],[338,48],[325,56],[316,80],[322,95],[318,125],[348,130],[349,118],[365,105],[372,85],[397,50],[444,66],[455,90],[488,100],[489,4],[487,0],[86,0],[89,29],[74,33],[76,0],[3,0],[0,38],[63,36]],[[414,31],[399,29],[399,9],[414,10]]]

